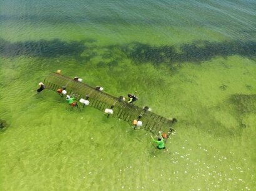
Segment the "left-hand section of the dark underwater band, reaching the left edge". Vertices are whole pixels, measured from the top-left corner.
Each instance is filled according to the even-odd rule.
[[[61,55],[79,57],[85,49],[84,41],[65,42],[54,39],[11,43],[0,39],[0,55],[4,57],[17,57],[20,55],[31,57],[59,57]]]

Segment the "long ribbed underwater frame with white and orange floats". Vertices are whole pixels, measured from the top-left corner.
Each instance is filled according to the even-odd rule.
[[[145,129],[155,135],[162,131],[169,136],[174,131],[172,125],[177,122],[176,119],[167,119],[152,113],[147,106],[140,108],[124,101],[122,96],[118,98],[109,95],[98,87],[93,88],[60,73],[50,73],[44,79],[44,85],[47,89],[54,91],[65,87],[67,95],[72,95],[76,100],[80,100],[83,106],[97,108],[105,112],[107,116],[111,115],[122,119],[133,124],[135,129]]]

